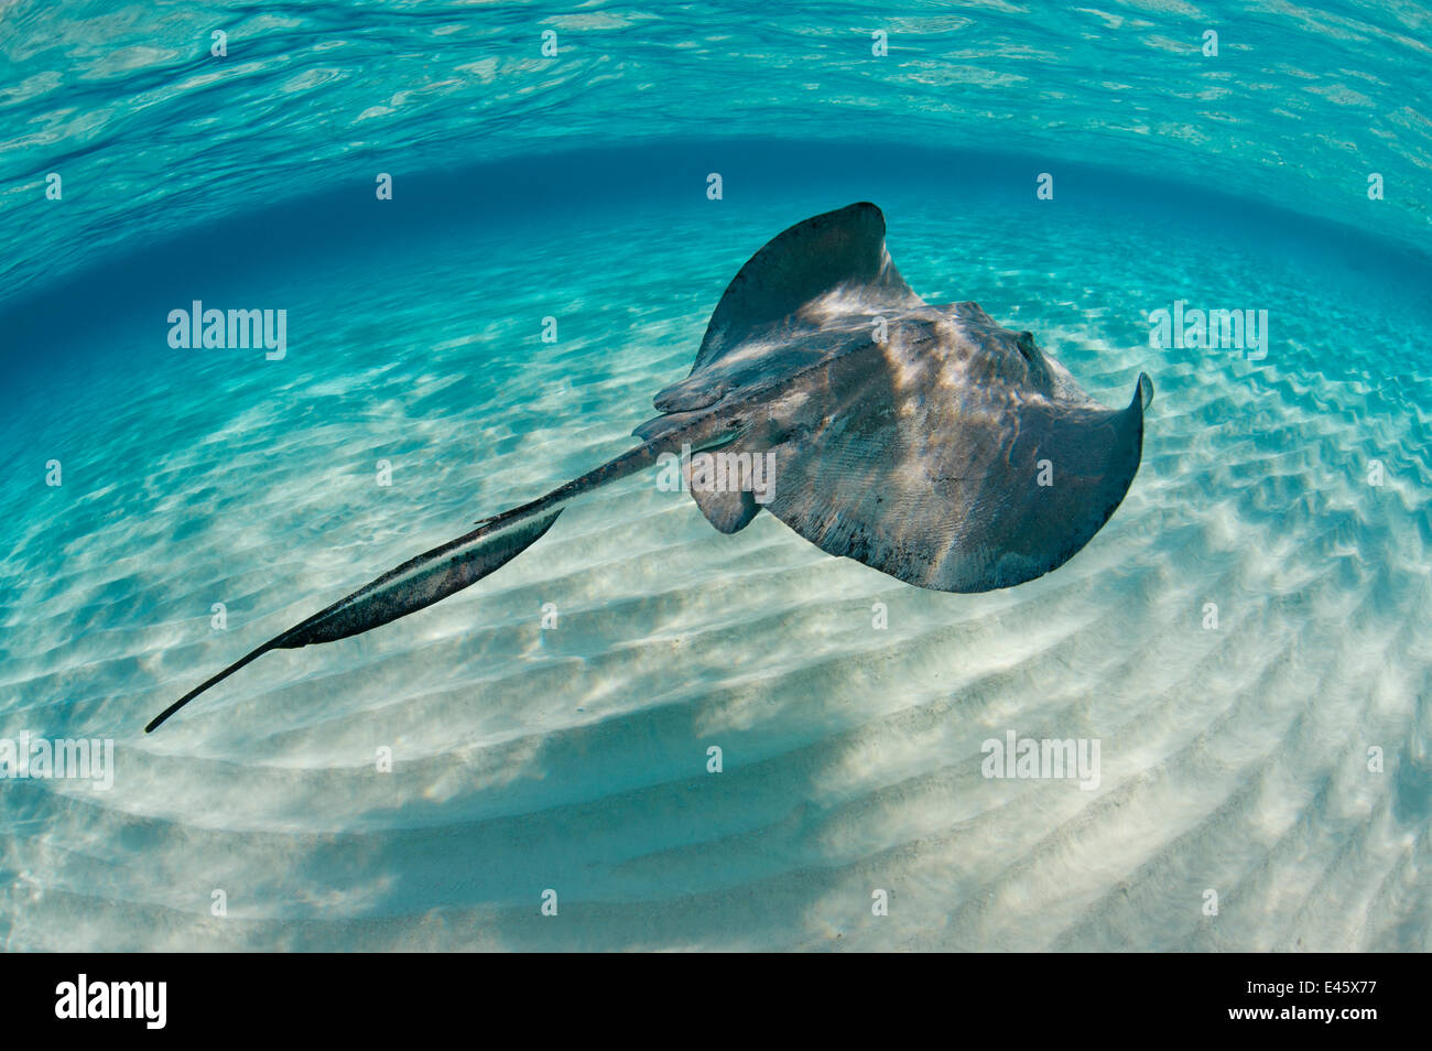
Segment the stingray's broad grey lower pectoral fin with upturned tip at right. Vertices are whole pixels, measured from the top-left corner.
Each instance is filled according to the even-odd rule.
[[[832,371],[821,411],[898,411],[776,444],[766,510],[831,554],[939,591],[1014,587],[1083,548],[1134,480],[1153,398],[1144,375],[1118,411],[1031,398],[1000,412],[881,384],[878,369]]]

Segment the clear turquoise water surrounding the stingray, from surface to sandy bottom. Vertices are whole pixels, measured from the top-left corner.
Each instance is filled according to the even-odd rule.
[[[1429,948],[1429,26],[4,9],[0,736],[116,742],[107,792],[0,782],[4,945]],[[859,199],[929,302],[1106,404],[1153,377],[1143,467],[1067,566],[922,591],[642,475],[142,733],[629,448],[740,263]],[[286,309],[286,357],[170,348],[193,299]],[[1266,357],[1151,345],[1176,301],[1266,309]],[[1007,730],[1100,740],[1100,785],[985,779]]]

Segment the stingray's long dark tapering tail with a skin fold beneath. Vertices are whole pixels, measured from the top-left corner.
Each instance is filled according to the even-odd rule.
[[[387,624],[425,609],[454,591],[475,584],[488,573],[505,566],[531,547],[551,528],[567,503],[576,497],[600,488],[607,483],[624,478],[656,462],[664,445],[643,442],[623,452],[594,471],[569,481],[540,500],[514,507],[510,511],[484,518],[478,527],[441,547],[424,551],[397,568],[388,570],[369,584],[339,599],[325,610],[319,610],[301,624],[269,639],[256,650],[246,653],[212,679],[189,690],[173,704],[149,720],[145,733],[152,733],[169,716],[215,683],[223,682],[241,667],[263,656],[269,650],[292,650],[312,643],[331,643],[369,629]]]

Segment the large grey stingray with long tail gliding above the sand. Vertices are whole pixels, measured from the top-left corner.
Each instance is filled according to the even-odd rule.
[[[1138,470],[1151,398],[1140,374],[1127,408],[1104,408],[1032,334],[972,302],[921,299],[885,249],[875,205],[826,212],[740,268],[690,374],[636,428],[640,445],[269,639],[145,730],[269,650],[348,639],[475,584],[574,498],[676,457],[722,533],[765,508],[821,550],[909,584],[1022,584],[1063,566],[1113,515]]]

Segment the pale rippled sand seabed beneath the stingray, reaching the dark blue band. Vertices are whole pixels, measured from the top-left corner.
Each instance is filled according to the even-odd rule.
[[[1425,294],[1259,231],[1124,216],[1111,239],[1090,209],[1011,236],[876,189],[931,302],[1032,329],[1106,404],[1153,377],[1143,467],[1083,553],[922,591],[769,515],[720,536],[649,473],[470,591],[265,656],[145,736],[259,641],[626,448],[802,215],[633,205],[276,268],[249,301],[289,309],[284,362],[169,351],[156,321],[6,431],[66,473],[0,493],[6,732],[115,736],[119,766],[109,792],[0,790],[3,945],[1432,948]],[[1269,308],[1267,358],[1148,347],[1176,298]],[[1007,730],[1098,739],[1098,788],[985,779]]]

